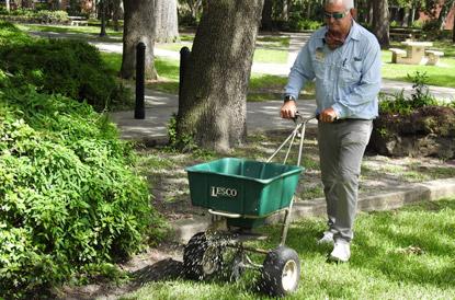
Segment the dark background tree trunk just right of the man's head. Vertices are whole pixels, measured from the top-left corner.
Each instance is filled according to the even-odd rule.
[[[373,1],[373,33],[376,35],[380,47],[390,45],[389,39],[389,14],[387,0]]]

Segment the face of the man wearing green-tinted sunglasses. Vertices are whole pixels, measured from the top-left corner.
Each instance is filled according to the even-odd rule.
[[[329,31],[338,34],[348,34],[351,28],[352,15],[342,1],[326,4],[325,20]]]

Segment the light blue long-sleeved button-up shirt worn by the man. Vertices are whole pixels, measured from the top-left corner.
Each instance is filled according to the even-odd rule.
[[[286,95],[298,99],[316,79],[317,112],[332,107],[339,118],[373,119],[378,114],[380,47],[376,37],[353,21],[344,44],[331,50],[327,27],[316,31],[291,68]]]

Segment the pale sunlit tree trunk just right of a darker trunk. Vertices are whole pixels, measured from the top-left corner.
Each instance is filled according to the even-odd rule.
[[[179,39],[177,0],[156,0],[156,42],[172,43]]]

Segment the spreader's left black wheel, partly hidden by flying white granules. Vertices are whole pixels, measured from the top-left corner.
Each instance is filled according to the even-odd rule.
[[[219,245],[200,232],[190,239],[183,251],[183,269],[190,279],[209,279],[220,270],[221,258]]]

